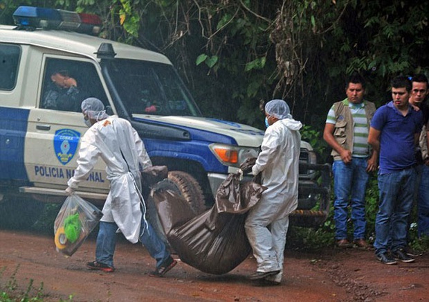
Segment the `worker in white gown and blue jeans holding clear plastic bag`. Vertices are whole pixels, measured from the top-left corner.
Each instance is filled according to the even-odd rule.
[[[114,271],[113,253],[116,233],[120,231],[132,243],[140,239],[156,259],[156,269],[149,276],[163,276],[177,262],[145,219],[140,171],[152,166],[145,145],[129,121],[108,116],[97,98],[86,98],[81,107],[89,130],[82,136],[77,168],[67,183],[66,193],[73,194],[80,181],[86,180],[98,157],[106,163],[110,181],[109,195],[102,210],[95,261],[87,263],[86,267],[103,272]]]

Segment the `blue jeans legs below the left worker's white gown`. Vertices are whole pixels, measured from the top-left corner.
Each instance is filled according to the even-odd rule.
[[[95,248],[95,260],[113,266],[113,254],[116,247],[116,230],[118,226],[114,222],[100,222],[100,231],[97,236],[97,247]],[[151,224],[147,224],[142,218],[142,227],[140,229],[140,242],[146,247],[149,255],[156,260],[156,267],[159,268],[165,260],[170,258],[170,252],[161,238],[159,238]]]

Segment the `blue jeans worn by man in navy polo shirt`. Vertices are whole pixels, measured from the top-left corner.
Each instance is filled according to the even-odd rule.
[[[412,207],[416,179],[417,173],[414,168],[378,175],[380,205],[375,225],[376,255],[385,254],[387,249],[396,251],[407,245],[408,216]]]

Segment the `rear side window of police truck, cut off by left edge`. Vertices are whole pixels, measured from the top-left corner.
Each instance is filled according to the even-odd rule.
[[[21,48],[16,45],[0,44],[0,89],[12,90],[17,82]]]

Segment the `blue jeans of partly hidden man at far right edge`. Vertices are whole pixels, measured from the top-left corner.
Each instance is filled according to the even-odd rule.
[[[429,236],[429,166],[423,165],[417,199],[417,231],[419,237]]]

